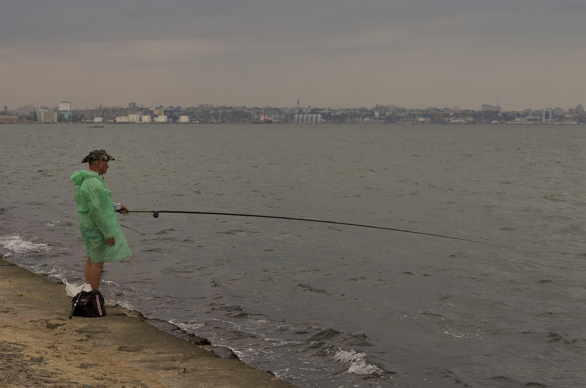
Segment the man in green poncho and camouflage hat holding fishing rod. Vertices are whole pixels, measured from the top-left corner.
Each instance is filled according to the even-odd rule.
[[[86,284],[94,290],[100,290],[104,263],[132,256],[115,211],[127,214],[128,207],[112,202],[112,192],[104,182],[108,161],[114,160],[104,149],[94,149],[81,161],[89,163],[89,169],[77,170],[70,176],[75,185],[79,231],[86,245]]]

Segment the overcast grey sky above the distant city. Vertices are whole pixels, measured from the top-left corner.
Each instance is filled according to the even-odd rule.
[[[584,0],[4,0],[0,104],[586,105]]]

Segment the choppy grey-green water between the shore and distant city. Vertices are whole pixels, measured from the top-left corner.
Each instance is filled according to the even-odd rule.
[[[0,254],[83,280],[71,173],[134,210],[106,298],[301,387],[581,387],[581,125],[0,125]],[[66,296],[64,292],[64,302]],[[532,384],[533,383],[533,384]]]

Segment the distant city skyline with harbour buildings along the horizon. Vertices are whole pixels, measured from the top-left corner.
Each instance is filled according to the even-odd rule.
[[[100,106],[96,108],[71,109],[70,101],[59,107],[35,107],[26,105],[9,111],[5,106],[0,114],[0,123],[15,122],[253,122],[253,123],[354,123],[375,124],[584,124],[586,112],[582,104],[575,108],[526,109],[502,111],[495,105],[483,104],[481,110],[455,108],[406,108],[396,105],[376,105],[357,108],[304,107],[245,107],[211,106],[196,107],[159,106],[144,107],[131,102],[127,107]]]

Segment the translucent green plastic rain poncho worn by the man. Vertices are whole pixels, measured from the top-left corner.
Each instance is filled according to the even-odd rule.
[[[132,256],[110,199],[112,192],[98,173],[77,170],[70,179],[75,184],[73,198],[77,202],[79,231],[91,262],[105,263]],[[115,244],[109,247],[105,240],[112,237]]]

